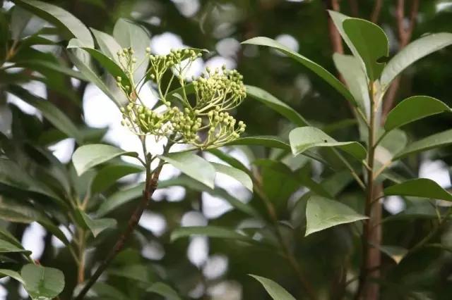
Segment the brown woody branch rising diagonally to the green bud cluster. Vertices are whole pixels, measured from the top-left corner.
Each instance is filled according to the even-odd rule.
[[[136,226],[138,225],[138,221],[141,218],[141,215],[143,215],[143,211],[145,210],[146,206],[148,206],[148,203],[153,196],[155,189],[157,189],[158,177],[160,175],[160,171],[162,170],[162,166],[163,165],[159,165],[159,167],[157,167],[157,170],[155,170],[155,172],[152,174],[149,171],[146,173],[143,198],[138,203],[138,206],[136,206],[135,211],[129,218],[126,230],[121,235],[121,237],[119,237],[116,244],[114,244],[114,247],[109,252],[105,260],[100,263],[93,276],[90,277],[90,280],[86,282],[85,286],[83,287],[81,292],[78,293],[78,296],[76,296],[75,300],[82,300],[85,297],[85,294],[88,293],[89,289],[95,284],[100,275],[104,273],[105,269],[112,262],[113,258],[115,258],[117,254],[119,254],[119,252],[124,248],[125,242],[127,241],[127,239],[129,239],[133,230],[135,230]]]

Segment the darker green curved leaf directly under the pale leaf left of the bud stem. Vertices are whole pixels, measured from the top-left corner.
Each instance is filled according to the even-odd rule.
[[[114,163],[106,165],[100,169],[91,183],[91,192],[102,192],[112,186],[117,180],[126,175],[143,172],[145,169],[141,165],[131,163]]]

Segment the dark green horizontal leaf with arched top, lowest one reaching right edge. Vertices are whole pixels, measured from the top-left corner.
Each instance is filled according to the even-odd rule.
[[[386,189],[384,189],[384,194],[386,196],[415,196],[452,201],[452,194],[449,194],[436,182],[427,178],[417,178],[397,185],[391,185],[391,187],[386,187]]]

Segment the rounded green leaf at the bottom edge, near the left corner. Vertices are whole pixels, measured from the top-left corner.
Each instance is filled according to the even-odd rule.
[[[20,270],[24,288],[32,299],[53,299],[64,289],[64,274],[58,269],[29,263]]]

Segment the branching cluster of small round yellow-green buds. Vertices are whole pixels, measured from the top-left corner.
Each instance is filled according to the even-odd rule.
[[[137,69],[133,49],[118,52],[121,68],[126,78],[117,77],[117,85],[129,103],[121,108],[122,124],[137,135],[167,137],[172,142],[191,144],[199,149],[209,149],[232,142],[244,132],[246,125],[235,120],[230,111],[246,97],[243,76],[237,70],[210,70],[198,78],[186,80],[185,73],[191,63],[200,57],[199,49],[172,50],[167,55],[152,55],[146,49],[149,62],[144,77],[134,83]],[[163,109],[146,107],[139,90],[151,80],[155,83]],[[169,92],[170,88],[177,89]]]

